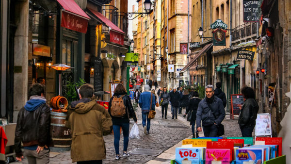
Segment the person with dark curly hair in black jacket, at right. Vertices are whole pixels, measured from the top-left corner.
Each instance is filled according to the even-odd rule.
[[[259,105],[255,99],[255,91],[251,87],[243,87],[241,93],[245,101],[240,106],[241,113],[238,123],[242,131],[242,137],[252,137],[252,132],[256,126]]]

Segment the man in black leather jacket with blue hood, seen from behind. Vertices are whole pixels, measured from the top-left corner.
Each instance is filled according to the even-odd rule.
[[[50,137],[50,110],[43,97],[45,88],[40,83],[35,83],[29,89],[30,99],[20,109],[17,117],[15,131],[16,159],[24,155],[29,164],[49,164],[49,146],[52,143]]]

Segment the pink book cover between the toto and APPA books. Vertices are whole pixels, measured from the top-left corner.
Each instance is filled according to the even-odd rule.
[[[211,164],[212,161],[221,161],[222,164],[229,164],[231,161],[230,149],[207,148],[205,153],[205,164]]]

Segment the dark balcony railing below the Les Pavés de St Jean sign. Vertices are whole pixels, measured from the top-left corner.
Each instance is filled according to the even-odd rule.
[[[232,38],[231,41],[235,41],[247,36],[250,36],[252,34],[257,33],[257,24],[252,23],[252,24],[244,24],[244,27],[236,27],[237,30],[232,31]]]

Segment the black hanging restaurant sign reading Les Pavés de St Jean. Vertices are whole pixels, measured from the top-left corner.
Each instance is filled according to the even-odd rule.
[[[243,22],[259,22],[259,0],[243,0]]]

